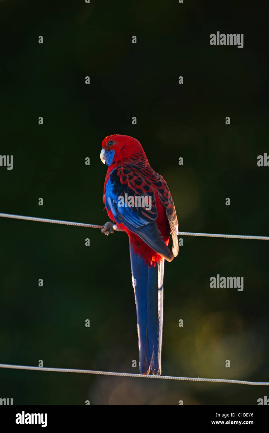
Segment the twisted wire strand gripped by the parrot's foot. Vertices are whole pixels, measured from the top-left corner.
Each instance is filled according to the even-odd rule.
[[[53,223],[53,224],[65,224],[67,226],[88,227],[91,229],[101,229],[103,227],[97,224],[74,223],[72,221],[51,220],[49,218],[38,218],[36,216],[13,215],[12,213],[0,213],[0,217],[13,218],[15,220],[37,221],[40,223]],[[114,224],[113,229],[117,231],[116,224]],[[179,236],[207,236],[207,237],[214,237],[214,238],[233,238],[233,239],[256,239],[256,240],[266,240],[266,241],[269,240],[269,236],[224,235],[224,234],[217,234],[217,233],[178,232],[178,235]]]

